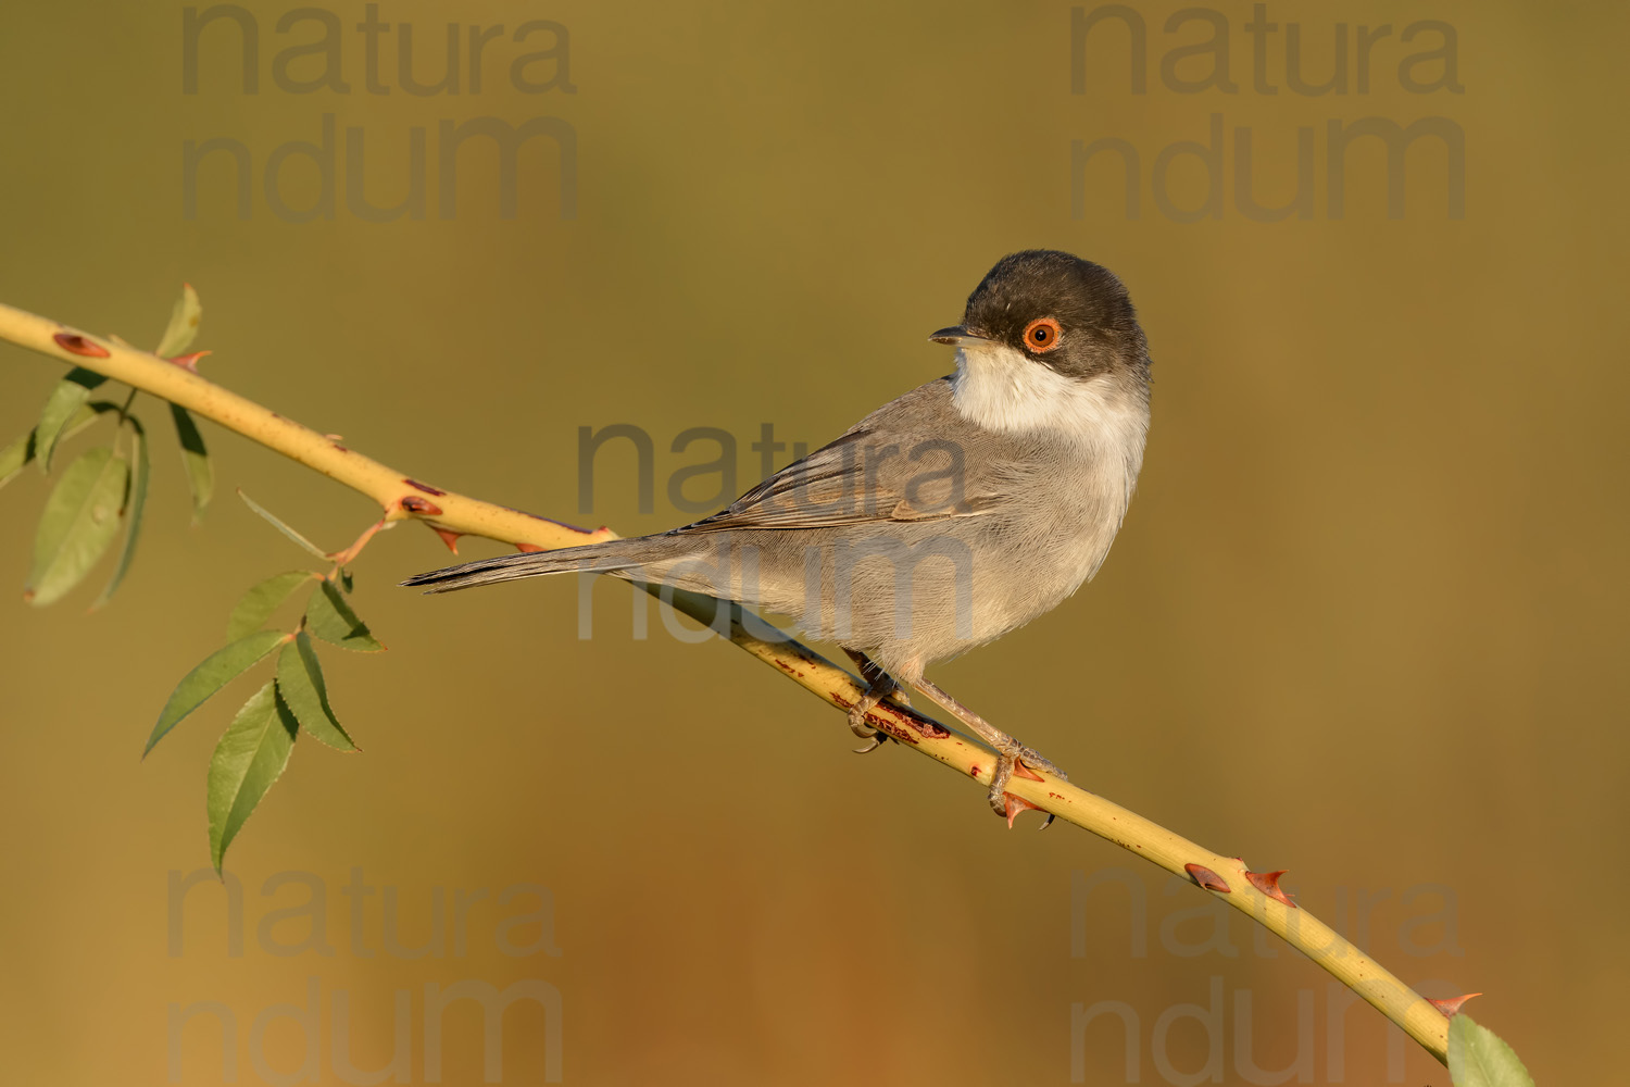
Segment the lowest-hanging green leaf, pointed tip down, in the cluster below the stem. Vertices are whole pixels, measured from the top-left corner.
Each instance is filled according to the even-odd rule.
[[[209,761],[209,852],[215,870],[266,790],[289,766],[298,722],[272,681],[249,696]]]

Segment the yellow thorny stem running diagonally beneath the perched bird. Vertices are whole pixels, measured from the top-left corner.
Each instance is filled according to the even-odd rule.
[[[0,339],[70,362],[132,388],[171,401],[228,430],[282,453],[336,482],[373,499],[383,510],[380,526],[421,520],[447,536],[486,536],[523,549],[569,548],[610,539],[608,528],[585,531],[530,513],[468,499],[422,484],[404,473],[355,453],[316,430],[231,393],[158,355],[80,332],[55,321],[0,305]],[[377,530],[375,530],[377,531]],[[365,533],[357,543],[367,543]],[[354,546],[355,548],[355,546]],[[652,590],[657,592],[657,590]],[[704,624],[712,624],[720,601],[696,593],[660,590],[660,596]],[[737,605],[729,608],[730,640],[753,657],[779,668],[794,683],[838,709],[861,698],[854,676],[805,645],[773,632],[758,616]],[[719,626],[724,626],[722,623]],[[978,746],[913,709],[883,702],[867,717],[901,746],[942,763],[985,786],[996,759]],[[1258,924],[1330,971],[1382,1015],[1402,1027],[1439,1061],[1447,1063],[1449,1019],[1433,1001],[1416,994],[1392,973],[1341,939],[1327,924],[1299,909],[1278,888],[1278,874],[1247,870],[1239,857],[1211,852],[1144,816],[1056,777],[1035,781],[1014,776],[1007,786],[1014,808],[1033,807],[1082,826],[1167,872],[1193,880],[1209,895],[1240,909]]]

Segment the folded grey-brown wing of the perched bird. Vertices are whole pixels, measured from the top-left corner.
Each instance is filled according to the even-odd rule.
[[[970,425],[950,404],[949,381],[931,381],[877,409],[831,445],[787,464],[727,510],[673,531],[980,517],[1001,505],[1002,489],[983,463],[970,463],[968,437]]]

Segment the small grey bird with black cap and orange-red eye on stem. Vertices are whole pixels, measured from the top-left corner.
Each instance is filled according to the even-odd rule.
[[[1051,611],[1108,556],[1149,429],[1149,352],[1105,267],[1051,249],[1002,257],[962,324],[931,341],[955,373],[883,404],[831,445],[683,528],[479,559],[404,585],[440,593],[590,570],[792,616],[838,642],[866,694],[849,727],[913,686],[996,750],[989,802],[1048,759],[957,702],[927,665]],[[870,750],[869,748],[861,748]]]

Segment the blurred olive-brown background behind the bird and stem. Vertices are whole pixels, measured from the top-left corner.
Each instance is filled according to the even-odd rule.
[[[445,72],[447,21],[466,28],[458,93],[427,96],[401,86],[396,29],[380,39],[391,90],[368,93],[357,3],[323,8],[344,26],[349,93],[280,88],[274,59],[319,24],[279,33],[289,7],[248,3],[256,95],[228,21],[204,29],[187,95],[184,8],[15,7],[0,37],[0,300],[152,345],[192,282],[214,380],[434,484],[634,535],[693,517],[667,481],[714,451],[673,453],[681,430],[735,433],[745,489],[761,424],[817,445],[947,372],[924,336],[958,319],[1004,253],[1100,261],[1131,288],[1156,360],[1138,499],[1090,587],[936,678],[1074,781],[1291,869],[1302,904],[1350,934],[1363,921],[1366,947],[1407,981],[1485,991],[1474,1014],[1540,1082],[1601,1082],[1630,944],[1627,143],[1612,54],[1627,15],[1273,3],[1268,95],[1245,3],[1216,8],[1237,93],[1167,86],[1162,57],[1209,36],[1165,33],[1178,7],[1136,5],[1146,93],[1112,21],[1089,36],[1074,95],[1068,3],[383,5],[381,21],[411,24],[422,83]],[[572,91],[517,90],[510,64],[556,44],[553,31],[515,42],[526,20],[569,29]],[[1418,20],[1456,31],[1464,91],[1400,85],[1400,60],[1443,41],[1423,29],[1400,44]],[[1284,28],[1324,81],[1338,21],[1350,67],[1359,24],[1392,26],[1368,93],[1356,70],[1346,95],[1291,91]],[[471,23],[505,28],[479,90]],[[305,57],[287,75],[319,72]],[[561,72],[540,60],[523,75]],[[1436,81],[1443,64],[1413,75]],[[289,222],[262,171],[279,145],[321,140],[324,114],[336,213]],[[1227,134],[1221,215],[1174,222],[1151,171],[1162,148],[1208,140],[1213,114]],[[570,125],[575,217],[561,215],[546,139],[520,153],[513,218],[479,140],[461,152],[455,213],[438,213],[438,124],[478,117]],[[1464,218],[1447,213],[1433,139],[1408,152],[1402,218],[1387,217],[1376,140],[1353,147],[1332,217],[1325,125],[1363,117],[1457,125]],[[408,194],[424,130],[422,218],[354,213],[347,127],[385,207]],[[1311,217],[1239,210],[1237,127],[1270,205],[1291,199],[1296,130],[1312,130]],[[253,156],[246,220],[227,155],[200,166],[186,213],[184,142],[217,137]],[[1073,184],[1071,140],[1104,137],[1139,153],[1138,218],[1112,156]],[[1192,155],[1169,181],[1180,207],[1206,199]],[[297,209],[321,196],[298,156],[280,184]],[[62,367],[10,345],[0,363],[10,438]],[[142,742],[236,596],[303,561],[233,487],[328,548],[375,513],[204,424],[218,495],[192,528],[170,424],[142,406],[155,492],[121,595],[85,614],[104,567],[55,608],[15,603],[0,627],[0,1048],[18,1082],[214,1084],[223,1059],[236,1082],[377,1082],[355,1069],[393,1053],[427,1082],[425,984],[463,981],[559,992],[559,1043],[538,1006],[507,1012],[507,1084],[541,1082],[551,1046],[575,1084],[1118,1084],[1134,1077],[1121,1023],[1139,1082],[1195,1082],[1183,1074],[1213,1045],[1221,1082],[1276,1082],[1252,1063],[1293,1067],[1299,1046],[1293,1071],[1312,1082],[1447,1082],[1413,1045],[1389,1058],[1384,1020],[1343,1014],[1322,971],[1131,854],[1068,826],[1035,834],[1035,816],[1009,833],[978,789],[900,750],[854,758],[841,715],[729,645],[668,634],[645,601],[650,636],[636,639],[619,583],[595,588],[588,640],[567,579],[450,598],[394,588],[448,559],[412,525],[357,564],[357,606],[390,652],[324,654],[365,753],[297,745],[227,857],[241,921],[210,880],[176,901],[171,874],[209,867],[210,751],[256,681],[145,763]],[[637,508],[626,443],[601,453],[593,510],[579,512],[579,427],[611,424],[655,442],[654,512]],[[31,469],[0,494],[0,569],[16,583],[47,489]],[[461,554],[494,551],[466,539]],[[354,880],[373,891],[347,895]],[[515,885],[548,888],[546,934],[536,916],[502,929],[536,914],[536,896],[497,903]],[[437,932],[445,945],[422,957],[385,945]],[[505,953],[517,945],[535,953]],[[277,1010],[313,992],[315,1035]],[[1209,1033],[1174,1022],[1213,999]],[[1073,1006],[1104,1001],[1123,1017],[1073,1040]],[[178,1027],[171,1009],[200,1002],[214,1010]],[[447,1014],[443,1082],[482,1082],[481,1036],[474,1004]]]

